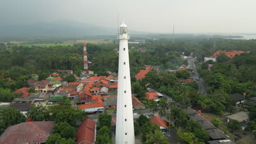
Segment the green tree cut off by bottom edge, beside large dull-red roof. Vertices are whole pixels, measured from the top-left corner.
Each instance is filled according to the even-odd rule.
[[[53,134],[48,137],[45,141],[46,144],[75,144],[75,141],[72,139],[62,138],[59,134]]]

